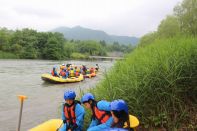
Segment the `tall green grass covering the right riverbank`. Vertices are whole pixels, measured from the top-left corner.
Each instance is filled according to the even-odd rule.
[[[197,38],[160,39],[119,61],[94,89],[98,99],[124,99],[144,128],[195,128]]]

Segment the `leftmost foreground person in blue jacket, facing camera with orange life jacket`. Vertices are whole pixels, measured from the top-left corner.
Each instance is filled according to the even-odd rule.
[[[64,93],[65,103],[62,108],[62,120],[64,125],[59,131],[82,131],[85,110],[80,101],[75,100],[74,91]]]

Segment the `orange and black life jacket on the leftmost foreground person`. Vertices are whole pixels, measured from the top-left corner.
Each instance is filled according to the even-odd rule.
[[[79,101],[75,100],[72,105],[64,104],[64,116],[66,117],[67,124],[76,124],[75,107]]]

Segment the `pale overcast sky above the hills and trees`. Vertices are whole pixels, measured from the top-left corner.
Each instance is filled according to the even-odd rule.
[[[141,37],[157,30],[182,0],[0,0],[0,27],[49,31],[82,26]]]

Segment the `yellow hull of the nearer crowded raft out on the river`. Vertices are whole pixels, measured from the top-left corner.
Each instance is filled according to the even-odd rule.
[[[55,77],[51,74],[42,74],[41,75],[42,80],[50,82],[50,83],[74,83],[74,82],[80,82],[83,81],[84,77],[82,74],[80,74],[78,77],[70,77],[70,78],[62,78],[62,76]]]

